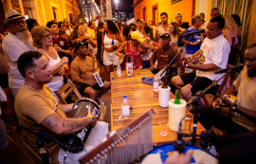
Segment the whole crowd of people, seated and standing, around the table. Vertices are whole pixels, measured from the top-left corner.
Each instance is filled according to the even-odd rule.
[[[239,64],[241,56],[239,16],[222,16],[217,8],[211,9],[210,21],[205,21],[205,14],[200,13],[192,17],[191,23],[183,22],[180,12],[175,14],[176,22],[170,23],[168,14],[162,12],[157,26],[143,19],[130,25],[107,20],[97,26],[96,21],[90,21],[74,27],[64,19],[59,23],[49,21],[44,26],[34,19],[25,20],[15,9],[9,9],[6,17],[7,35],[2,38],[0,66],[7,64],[1,72],[9,72],[9,76],[5,81],[1,79],[1,86],[6,87],[8,101],[15,100],[14,106],[7,105],[7,113],[14,107],[21,124],[34,130],[43,128],[55,135],[71,134],[85,125],[95,126],[97,122],[90,111],[83,118],[66,117],[73,103],[58,103],[54,93],[64,85],[66,71],[82,96],[103,105],[101,96],[111,87],[110,72],[118,65],[125,69],[129,60],[134,69],[149,69],[156,74],[175,57],[170,64],[169,84],[172,92],[179,89],[185,100],[191,100],[197,91],[206,89],[224,75],[214,74],[214,70]],[[186,34],[199,29],[206,31]],[[256,130],[255,61],[256,46],[249,46],[245,53],[246,66],[221,96],[232,106],[229,118],[220,118],[216,112],[221,108],[220,99],[213,101],[211,108],[198,110],[199,120],[208,130],[212,125],[227,132]],[[98,68],[104,83],[102,87],[93,75]],[[237,100],[230,101],[227,95],[231,94],[237,95]],[[35,137],[25,135],[38,153]],[[57,163],[63,160],[58,158],[59,150],[56,145],[46,144],[46,151]]]

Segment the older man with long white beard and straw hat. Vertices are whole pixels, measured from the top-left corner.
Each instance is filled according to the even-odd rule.
[[[23,52],[34,50],[34,46],[24,16],[15,9],[9,9],[6,18],[9,33],[4,38],[2,47],[10,66],[9,89],[15,98],[24,84],[24,78],[17,68],[18,58]]]

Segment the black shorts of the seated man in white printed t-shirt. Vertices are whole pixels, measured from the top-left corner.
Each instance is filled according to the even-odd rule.
[[[184,83],[184,85],[190,83],[192,85],[192,95],[194,96],[195,93],[199,90],[203,91],[206,89],[212,81],[206,77],[196,77],[195,73],[185,73],[179,75],[180,79]],[[216,90],[219,88],[219,85],[213,86],[210,91]]]

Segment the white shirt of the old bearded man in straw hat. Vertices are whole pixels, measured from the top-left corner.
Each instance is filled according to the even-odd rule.
[[[25,79],[17,67],[17,61],[23,52],[35,50],[34,46],[24,44],[16,35],[8,33],[3,40],[3,51],[9,62],[9,87],[21,88]]]

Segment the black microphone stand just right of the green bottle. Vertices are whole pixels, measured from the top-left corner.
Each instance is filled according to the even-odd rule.
[[[230,70],[227,72],[229,73]],[[203,91],[198,91],[195,93],[195,96],[192,97],[191,100],[189,100],[189,102],[187,103],[187,106],[190,106],[193,104],[193,127],[192,127],[192,145],[195,144],[195,135],[196,135],[196,128],[197,128],[197,121],[198,121],[198,113],[197,113],[197,101],[200,100],[200,98],[202,98],[213,86],[216,86],[216,84],[222,80],[224,77],[226,76],[223,75],[220,79],[213,81],[205,90]]]

